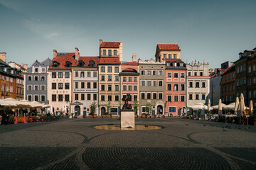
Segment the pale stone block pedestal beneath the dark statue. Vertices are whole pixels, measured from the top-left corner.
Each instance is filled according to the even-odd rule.
[[[135,128],[134,111],[121,111],[121,128]]]

